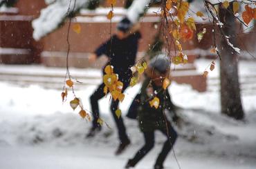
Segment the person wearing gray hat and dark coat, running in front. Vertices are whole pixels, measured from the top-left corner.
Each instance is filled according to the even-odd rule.
[[[165,117],[165,110],[171,110],[170,94],[163,88],[163,80],[169,77],[170,61],[167,57],[156,56],[149,61],[145,72],[145,81],[140,89],[140,105],[138,107],[138,123],[145,139],[145,145],[127,161],[125,168],[132,168],[154,147],[154,131],[160,130],[167,137],[163,149],[159,153],[154,169],[163,169],[163,162],[172,150],[178,137],[171,122]],[[156,99],[157,98],[157,99]],[[152,103],[153,101],[153,103]],[[156,104],[154,103],[156,101]],[[158,102],[158,103],[157,103]],[[175,112],[172,112],[175,114]],[[173,121],[176,114],[172,116]]]

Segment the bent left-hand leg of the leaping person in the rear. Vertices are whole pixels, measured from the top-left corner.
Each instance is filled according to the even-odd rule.
[[[93,137],[95,135],[95,131],[100,130],[100,125],[97,122],[98,118],[100,117],[98,100],[104,97],[103,88],[104,88],[104,83],[100,84],[98,89],[95,90],[93,95],[91,95],[90,97],[91,111],[93,114],[93,121],[92,121],[93,126],[86,137]]]

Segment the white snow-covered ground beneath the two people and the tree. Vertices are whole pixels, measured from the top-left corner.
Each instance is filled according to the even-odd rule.
[[[200,71],[208,63],[203,59],[196,61]],[[220,115],[218,69],[210,72],[208,91],[204,93],[172,83],[172,99],[183,108],[179,112],[185,119],[183,128],[177,129],[180,137],[174,148],[181,168],[256,168],[256,81],[251,78],[256,75],[256,62],[241,61],[239,68],[244,121]],[[125,118],[132,145],[123,155],[113,155],[118,139],[109,113],[109,99],[100,101],[100,110],[113,129],[104,126],[95,138],[84,139],[91,124],[73,112],[68,103],[62,105],[60,90],[8,82],[0,82],[0,88],[0,168],[120,169],[143,145],[136,121]],[[95,88],[85,86],[77,91],[88,109],[88,98]],[[138,85],[126,91],[120,106],[124,114],[139,88]],[[156,132],[156,147],[136,168],[152,168],[163,141],[165,138]],[[165,166],[178,168],[173,152]]]

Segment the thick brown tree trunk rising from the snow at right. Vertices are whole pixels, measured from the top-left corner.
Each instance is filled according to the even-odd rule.
[[[230,37],[229,41],[236,46],[235,17],[228,10],[232,11],[232,3],[228,10],[219,8],[219,17],[224,24],[224,33]],[[221,38],[221,113],[235,119],[244,118],[244,110],[241,105],[241,95],[238,77],[238,57],[232,47],[228,46],[225,39]]]

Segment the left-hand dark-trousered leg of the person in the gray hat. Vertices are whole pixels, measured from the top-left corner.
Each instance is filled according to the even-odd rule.
[[[143,159],[147,153],[152,150],[154,147],[154,131],[153,132],[143,132],[144,139],[145,139],[145,145],[138,150],[134,158],[129,159],[127,165],[125,166],[126,168],[129,167],[134,167],[138,161]]]

